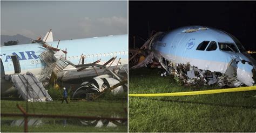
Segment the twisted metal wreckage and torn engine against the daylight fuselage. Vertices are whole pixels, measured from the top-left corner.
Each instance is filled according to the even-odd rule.
[[[47,56],[49,55],[46,53],[49,53],[49,51],[45,51],[45,53],[42,53],[43,56],[41,55],[40,57],[42,57],[42,60],[48,64],[51,61],[47,61]],[[61,51],[59,51],[59,53],[61,53]],[[73,93],[72,98],[85,98],[92,100],[98,98],[99,95],[102,95],[106,91],[111,91],[113,95],[127,92],[127,79],[126,77],[119,75],[120,72],[126,72],[122,63],[119,62],[122,66],[119,68],[117,66],[111,66],[116,57],[112,57],[103,65],[97,64],[100,60],[91,64],[75,65],[68,60],[65,60],[63,58],[64,54],[57,55],[58,58],[56,57],[56,64],[48,64],[50,69],[46,68],[46,70],[48,70],[46,73],[52,73],[53,70],[56,74],[56,82],[74,82],[73,80],[80,79],[82,75],[89,75],[86,77],[85,82],[83,82]],[[55,54],[53,54],[53,56],[55,56]],[[110,65],[106,67],[107,64]],[[65,71],[65,68],[69,68],[69,70]]]

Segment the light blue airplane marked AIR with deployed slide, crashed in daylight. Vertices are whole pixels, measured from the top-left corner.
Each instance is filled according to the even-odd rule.
[[[88,83],[96,87],[87,90],[99,89],[94,93],[100,93],[127,78],[127,35],[53,41],[50,31],[43,40],[39,38],[30,44],[1,47],[0,57],[2,94],[16,89],[25,100],[51,101],[42,85],[51,80],[82,86]],[[122,73],[126,76],[121,76]],[[105,88],[99,86],[102,80],[107,85]],[[123,86],[111,90],[112,93],[127,91],[127,84]],[[78,89],[86,90],[84,87],[73,90],[76,97],[90,92]]]

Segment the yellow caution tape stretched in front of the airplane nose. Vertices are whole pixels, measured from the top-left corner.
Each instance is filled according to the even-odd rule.
[[[253,90],[256,90],[256,86],[223,88],[223,89],[217,89],[217,90],[190,91],[190,92],[129,94],[129,96],[130,97],[166,97],[166,96],[201,95],[201,94],[215,94],[215,93],[225,93],[225,92],[253,91]]]

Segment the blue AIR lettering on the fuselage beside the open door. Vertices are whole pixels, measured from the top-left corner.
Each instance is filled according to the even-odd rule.
[[[28,55],[28,58],[25,57],[25,54]],[[6,55],[6,54],[0,54],[0,56]],[[17,53],[12,53],[12,55],[17,55],[18,60],[31,60],[31,59],[38,59],[39,57],[35,54],[35,51],[20,51],[19,54]],[[11,56],[7,55],[5,62],[11,61]]]

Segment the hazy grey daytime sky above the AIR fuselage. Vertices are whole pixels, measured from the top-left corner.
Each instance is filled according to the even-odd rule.
[[[2,35],[54,40],[127,34],[127,2],[2,2]]]

